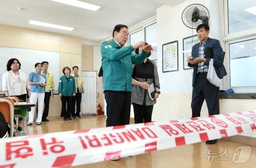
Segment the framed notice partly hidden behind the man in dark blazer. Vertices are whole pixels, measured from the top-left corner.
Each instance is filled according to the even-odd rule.
[[[199,43],[200,40],[197,38],[197,35],[183,38],[183,69],[193,69],[188,66],[187,58],[191,56],[192,47]]]

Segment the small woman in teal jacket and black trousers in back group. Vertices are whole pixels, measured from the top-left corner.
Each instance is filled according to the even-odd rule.
[[[75,96],[75,78],[70,76],[70,68],[64,67],[62,69],[63,76],[59,80],[59,95],[61,99],[61,113],[60,117],[63,117],[64,121],[72,120],[71,118],[71,105],[72,96]],[[68,107],[66,107],[66,104]]]

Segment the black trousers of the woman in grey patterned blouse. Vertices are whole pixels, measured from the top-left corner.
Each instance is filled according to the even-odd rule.
[[[133,111],[134,111],[134,122],[143,123],[143,122],[151,122],[152,111],[154,105],[140,105],[136,103],[132,103]]]

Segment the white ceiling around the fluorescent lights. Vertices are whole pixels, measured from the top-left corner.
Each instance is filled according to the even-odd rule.
[[[175,6],[185,0],[80,0],[101,8],[90,11],[51,0],[0,0],[0,24],[63,33],[100,42],[116,24],[133,26],[156,15],[156,8]],[[22,7],[25,10],[18,10]],[[73,31],[29,24],[29,20],[74,27]]]

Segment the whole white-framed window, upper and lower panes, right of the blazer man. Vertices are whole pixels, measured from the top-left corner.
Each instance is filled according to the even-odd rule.
[[[236,93],[256,92],[256,1],[223,0],[225,68],[222,86]]]

